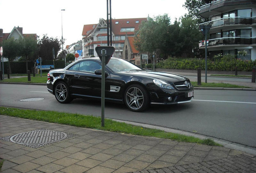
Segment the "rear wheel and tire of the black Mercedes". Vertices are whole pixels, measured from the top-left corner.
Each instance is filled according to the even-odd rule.
[[[70,98],[70,93],[68,86],[65,82],[58,82],[54,89],[54,95],[58,102],[60,103],[69,103],[72,101]]]

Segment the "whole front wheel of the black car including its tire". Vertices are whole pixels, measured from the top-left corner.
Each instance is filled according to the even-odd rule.
[[[131,111],[144,111],[149,107],[149,94],[141,85],[132,84],[124,93],[124,103]]]

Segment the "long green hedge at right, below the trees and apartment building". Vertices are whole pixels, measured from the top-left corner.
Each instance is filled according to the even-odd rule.
[[[223,58],[215,61],[207,60],[207,70],[220,70],[220,71],[234,71],[237,67],[238,71],[252,71],[252,67],[256,66],[256,60],[239,60],[224,56]],[[205,70],[205,60],[190,58],[178,60],[178,58],[168,58],[156,64],[156,68],[167,69],[186,69],[197,70],[201,68]]]

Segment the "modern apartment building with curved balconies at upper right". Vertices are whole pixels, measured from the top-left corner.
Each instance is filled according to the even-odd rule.
[[[209,56],[233,54],[242,60],[256,60],[256,0],[204,0],[199,14],[209,18]],[[204,48],[204,41],[199,42]],[[245,50],[246,56],[238,52]]]

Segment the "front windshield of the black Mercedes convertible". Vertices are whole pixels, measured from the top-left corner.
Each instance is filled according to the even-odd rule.
[[[122,59],[111,58],[106,65],[108,68],[114,72],[130,71],[130,70],[142,70],[138,66]]]

